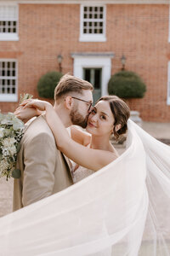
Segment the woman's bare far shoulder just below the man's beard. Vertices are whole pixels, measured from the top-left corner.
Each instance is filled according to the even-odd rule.
[[[87,131],[82,130],[81,127],[71,125],[71,138],[75,142],[87,146],[90,143],[91,135]]]

